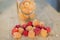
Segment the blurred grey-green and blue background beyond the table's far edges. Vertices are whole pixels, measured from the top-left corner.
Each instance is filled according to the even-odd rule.
[[[55,8],[58,12],[60,11],[60,0],[44,0],[44,1],[46,1],[53,8]],[[16,0],[0,0],[0,11],[8,8],[15,2]]]

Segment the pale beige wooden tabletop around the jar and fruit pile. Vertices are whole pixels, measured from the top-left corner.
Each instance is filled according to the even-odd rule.
[[[56,34],[52,37],[49,36],[46,40],[60,40],[60,14],[50,5],[46,5],[42,11],[39,10],[38,8],[36,12],[38,14],[37,18],[51,26],[53,33]],[[13,40],[11,37],[11,29],[16,24],[19,24],[19,22],[16,4],[14,3],[0,14],[0,40]],[[38,38],[38,40],[40,39]]]

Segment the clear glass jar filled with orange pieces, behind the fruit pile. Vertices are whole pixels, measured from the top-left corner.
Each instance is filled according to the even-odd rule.
[[[20,24],[35,19],[36,4],[34,0],[17,0],[17,13]]]

